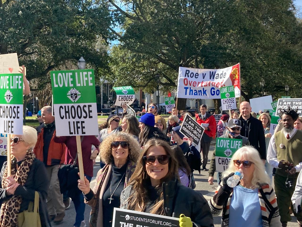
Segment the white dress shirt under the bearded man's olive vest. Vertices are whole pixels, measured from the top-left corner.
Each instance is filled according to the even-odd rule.
[[[293,137],[297,132],[297,129],[294,128],[290,133],[289,133],[289,137]],[[287,132],[284,132],[284,137],[286,138],[287,136]],[[269,145],[268,145],[268,149],[267,149],[267,156],[266,159],[268,161],[268,163],[273,166],[276,169],[280,169],[278,167],[279,165],[279,161],[277,159],[277,149],[276,149],[276,144],[275,144],[275,134],[272,135],[271,140],[269,141]],[[281,161],[281,160],[280,160]],[[288,160],[285,160],[288,161]],[[300,172],[301,168],[302,168],[302,162],[300,162],[297,166],[295,166],[296,168],[296,172]]]

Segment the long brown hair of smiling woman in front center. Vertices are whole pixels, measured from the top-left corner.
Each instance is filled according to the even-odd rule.
[[[156,199],[155,205],[151,208],[151,214],[159,214],[164,215],[164,198],[162,192],[162,183],[173,180],[179,179],[178,178],[178,162],[172,152],[170,146],[167,142],[158,139],[151,139],[149,140],[142,153],[140,154],[139,159],[137,160],[137,165],[134,173],[130,178],[129,185],[132,186],[133,193],[128,198],[128,208],[130,210],[145,212],[146,205],[149,202],[148,199],[148,188],[151,184],[150,177],[146,171],[146,164],[143,160],[143,156],[146,156],[148,150],[152,146],[161,146],[164,148],[167,155],[170,156],[169,159],[169,170],[167,175],[160,180],[160,184],[156,186],[157,191],[159,191],[159,198]]]

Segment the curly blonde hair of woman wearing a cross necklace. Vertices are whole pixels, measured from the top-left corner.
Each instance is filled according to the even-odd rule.
[[[100,158],[105,164],[113,162],[111,143],[117,139],[124,140],[129,143],[129,157],[133,162],[137,162],[138,156],[140,155],[140,145],[137,140],[134,139],[132,134],[118,132],[113,133],[106,137],[100,145]]]

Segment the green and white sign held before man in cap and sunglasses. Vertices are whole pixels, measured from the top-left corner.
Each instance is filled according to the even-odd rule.
[[[223,172],[228,168],[233,154],[242,147],[242,140],[231,138],[217,138],[215,148],[216,172]]]

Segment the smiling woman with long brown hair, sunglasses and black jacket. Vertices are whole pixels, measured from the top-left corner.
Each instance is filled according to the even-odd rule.
[[[151,214],[177,218],[183,214],[179,226],[214,226],[204,197],[179,182],[178,161],[162,140],[146,143],[120,203],[120,208]]]

